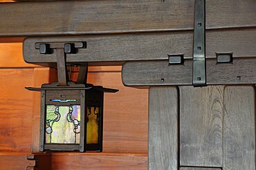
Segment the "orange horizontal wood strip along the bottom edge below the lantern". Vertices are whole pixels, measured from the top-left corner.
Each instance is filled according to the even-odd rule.
[[[82,162],[82,163],[81,163]],[[98,169],[98,170],[145,170],[146,155],[53,153],[53,169]]]

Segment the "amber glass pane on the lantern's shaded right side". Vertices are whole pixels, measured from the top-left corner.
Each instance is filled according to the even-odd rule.
[[[100,122],[100,108],[87,107],[87,144],[98,144],[99,142],[99,122]]]

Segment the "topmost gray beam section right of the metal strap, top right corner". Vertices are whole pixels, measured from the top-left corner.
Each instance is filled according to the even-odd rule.
[[[256,26],[256,1],[206,0],[206,28]]]

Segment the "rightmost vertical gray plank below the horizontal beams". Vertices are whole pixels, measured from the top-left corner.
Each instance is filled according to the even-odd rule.
[[[255,169],[255,87],[224,91],[223,169]]]

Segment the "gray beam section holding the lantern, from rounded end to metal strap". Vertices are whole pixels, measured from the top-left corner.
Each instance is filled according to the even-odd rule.
[[[66,62],[124,62],[131,60],[168,59],[168,54],[192,56],[193,32],[156,32],[125,35],[35,37],[24,41],[24,59],[28,63],[57,62],[55,53],[41,55],[35,43],[86,41],[87,48],[66,55]],[[91,64],[91,63],[89,63]],[[113,64],[113,63],[111,63]]]

